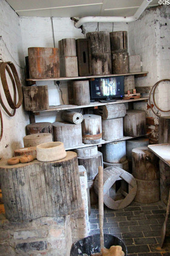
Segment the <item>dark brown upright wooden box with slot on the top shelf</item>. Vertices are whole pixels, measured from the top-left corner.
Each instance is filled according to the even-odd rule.
[[[91,45],[90,39],[79,38],[76,40],[77,61],[79,76],[91,76]]]

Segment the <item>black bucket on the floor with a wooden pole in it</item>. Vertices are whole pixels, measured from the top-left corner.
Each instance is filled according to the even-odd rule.
[[[110,248],[112,245],[122,246],[122,250],[127,255],[127,248],[124,242],[116,236],[104,234],[105,248]],[[70,251],[70,256],[91,256],[92,253],[100,252],[100,234],[85,237],[75,242]]]

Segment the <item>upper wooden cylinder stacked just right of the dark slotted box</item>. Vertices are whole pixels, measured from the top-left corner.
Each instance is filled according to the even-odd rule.
[[[86,34],[86,38],[90,38],[92,54],[111,53],[109,32],[89,32]]]

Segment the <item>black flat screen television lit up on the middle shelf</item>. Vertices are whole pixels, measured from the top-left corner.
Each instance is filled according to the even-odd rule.
[[[91,99],[115,99],[124,96],[124,76],[91,78]]]

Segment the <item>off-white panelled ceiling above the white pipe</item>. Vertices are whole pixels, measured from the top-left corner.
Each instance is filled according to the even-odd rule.
[[[19,16],[131,16],[143,0],[7,0]],[[153,0],[149,6],[158,6]]]

